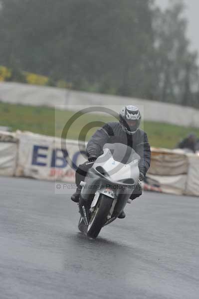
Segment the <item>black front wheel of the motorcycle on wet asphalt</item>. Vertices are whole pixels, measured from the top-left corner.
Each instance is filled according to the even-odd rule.
[[[87,228],[87,236],[95,239],[103,225],[107,221],[107,216],[111,209],[113,198],[100,194],[95,210],[91,214],[91,218]]]

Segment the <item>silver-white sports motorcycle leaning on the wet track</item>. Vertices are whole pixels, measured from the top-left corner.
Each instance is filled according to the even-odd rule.
[[[81,181],[79,230],[97,238],[105,225],[113,222],[125,208],[139,181],[140,156],[119,143],[106,144]]]

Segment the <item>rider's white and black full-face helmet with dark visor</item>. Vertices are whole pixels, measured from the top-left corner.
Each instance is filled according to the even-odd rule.
[[[132,105],[125,106],[120,111],[119,116],[122,129],[127,134],[135,134],[140,127],[142,119],[139,109]]]

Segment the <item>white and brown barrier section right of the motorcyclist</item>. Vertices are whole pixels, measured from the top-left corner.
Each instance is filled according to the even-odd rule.
[[[199,155],[152,148],[146,190],[199,196]]]

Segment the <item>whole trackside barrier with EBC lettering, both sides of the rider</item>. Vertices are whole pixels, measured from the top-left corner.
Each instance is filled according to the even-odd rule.
[[[30,132],[0,132],[0,175],[75,182],[85,161],[85,144]],[[199,196],[199,155],[152,148],[145,189]]]

